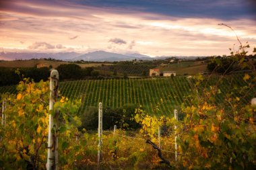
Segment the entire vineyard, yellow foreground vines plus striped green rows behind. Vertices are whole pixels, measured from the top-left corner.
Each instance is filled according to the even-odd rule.
[[[61,93],[55,106],[51,105],[55,112],[48,103],[48,81],[34,83],[24,79],[16,88],[1,87],[0,92],[5,94],[0,166],[3,169],[45,169],[45,165],[47,169],[55,169],[51,165],[59,169],[253,169],[256,110],[249,101],[256,88],[252,77],[245,74],[66,81],[55,83]],[[57,95],[58,89],[51,85],[50,88]],[[113,122],[113,116],[108,118],[98,102],[103,103],[103,108],[137,105],[132,117],[119,116],[128,119],[129,125],[139,126],[129,130],[125,122]],[[98,133],[79,128],[83,120],[77,113],[82,115],[91,106],[99,110],[99,116],[93,118],[99,120]],[[48,119],[52,115],[57,120],[49,131]],[[106,123],[108,128],[102,130]],[[113,126],[115,123],[117,126]],[[53,142],[47,146],[46,135],[50,132]],[[54,156],[58,159],[51,159],[49,152],[59,153]]]

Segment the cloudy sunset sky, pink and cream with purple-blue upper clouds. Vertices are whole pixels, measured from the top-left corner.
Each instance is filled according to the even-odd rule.
[[[237,35],[250,54],[255,9],[254,0],[0,0],[0,52],[214,56],[238,49]]]

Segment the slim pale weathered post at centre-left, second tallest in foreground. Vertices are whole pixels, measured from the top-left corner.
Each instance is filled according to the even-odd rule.
[[[98,169],[102,161],[102,103],[98,103]]]

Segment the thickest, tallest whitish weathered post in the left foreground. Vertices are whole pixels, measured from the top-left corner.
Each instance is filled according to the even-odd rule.
[[[50,76],[50,100],[49,100],[49,134],[48,134],[48,152],[47,152],[47,163],[46,169],[53,170],[58,168],[58,138],[55,129],[55,133],[53,132],[53,127],[55,125],[55,121],[53,120],[53,105],[56,101],[59,90],[59,73],[57,70],[51,71]]]

